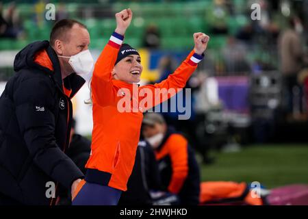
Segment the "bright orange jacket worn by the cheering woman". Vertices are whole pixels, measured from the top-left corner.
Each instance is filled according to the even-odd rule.
[[[144,96],[138,97],[133,94],[130,103],[125,104],[125,106],[137,111],[120,112],[117,105],[123,95],[129,96],[129,94],[122,92],[123,95],[118,96],[118,91],[121,93],[123,88],[130,92],[133,89],[140,91],[142,88],[149,88],[149,90],[154,90],[155,88],[183,88],[196,66],[188,64],[188,60],[194,53],[192,51],[168,79],[155,85],[138,88],[136,84],[133,85],[112,79],[112,70],[118,50],[116,47],[112,47],[111,44],[107,44],[94,66],[91,81],[93,103],[92,154],[88,159],[86,168],[110,172],[112,177],[108,185],[112,188],[126,191],[127,181],[135,162],[143,118],[142,112],[146,110],[146,107],[140,109],[137,105],[136,109],[134,103],[142,101]],[[118,151],[118,154],[116,151]],[[115,159],[116,162],[114,162]]]

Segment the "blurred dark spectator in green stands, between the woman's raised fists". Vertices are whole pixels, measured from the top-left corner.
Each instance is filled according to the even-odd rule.
[[[144,47],[149,49],[158,49],[160,46],[160,33],[156,25],[149,25],[146,27],[144,38],[142,40]]]

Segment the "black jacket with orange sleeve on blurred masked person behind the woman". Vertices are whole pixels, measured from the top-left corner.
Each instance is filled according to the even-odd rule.
[[[184,136],[169,127],[155,156],[163,189],[178,194],[181,205],[198,205],[200,170]]]

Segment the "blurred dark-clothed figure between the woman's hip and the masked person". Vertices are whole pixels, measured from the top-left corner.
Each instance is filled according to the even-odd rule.
[[[133,171],[118,205],[152,205],[151,190],[161,190],[157,161],[151,145],[140,140]]]

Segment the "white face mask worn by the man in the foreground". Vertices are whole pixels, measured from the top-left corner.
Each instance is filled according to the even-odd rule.
[[[72,66],[73,70],[77,75],[88,75],[91,72],[94,65],[93,57],[88,49],[85,51],[81,51],[76,55],[72,56],[58,55],[58,57],[70,58],[70,60],[68,60],[68,63],[70,64],[70,66]]]

